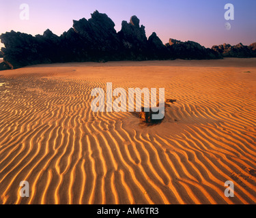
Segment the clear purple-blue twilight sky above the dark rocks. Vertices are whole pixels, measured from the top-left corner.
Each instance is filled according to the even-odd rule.
[[[29,20],[20,20],[21,3],[29,5]],[[229,30],[226,3],[234,5]],[[51,29],[61,35],[72,27],[72,20],[88,19],[95,10],[107,14],[116,31],[122,20],[137,15],[147,37],[156,32],[164,44],[169,38],[205,47],[256,42],[256,0],[0,0],[0,34],[14,30],[36,35]]]

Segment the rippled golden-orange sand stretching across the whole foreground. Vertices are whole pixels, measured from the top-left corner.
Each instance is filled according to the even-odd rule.
[[[154,126],[92,112],[106,82],[177,102]],[[35,65],[0,84],[1,204],[256,203],[255,59]]]

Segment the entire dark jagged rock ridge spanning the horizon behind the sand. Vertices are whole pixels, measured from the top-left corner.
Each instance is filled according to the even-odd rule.
[[[111,18],[96,11],[89,20],[73,20],[73,27],[60,36],[49,29],[43,35],[35,36],[15,31],[3,33],[0,40],[5,44],[5,48],[1,48],[4,63],[0,69],[74,61],[256,57],[256,43],[250,46],[213,46],[210,49],[196,42],[170,39],[164,45],[156,33],[147,39],[145,27],[140,25],[137,16],[132,16],[130,22],[123,21],[118,33],[114,27]]]

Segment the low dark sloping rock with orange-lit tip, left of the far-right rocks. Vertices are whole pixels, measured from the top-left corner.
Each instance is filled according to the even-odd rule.
[[[179,59],[221,59],[218,52],[205,48],[197,42],[181,42],[179,40],[170,39],[166,44],[171,57]]]

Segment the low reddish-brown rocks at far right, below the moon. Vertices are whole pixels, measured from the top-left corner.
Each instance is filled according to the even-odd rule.
[[[212,46],[212,50],[215,50],[223,57],[256,57],[256,43],[250,46],[244,46],[242,43],[236,46],[231,46],[230,44],[223,44],[219,46]]]

